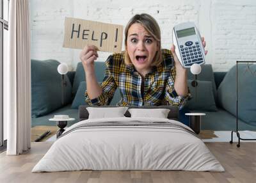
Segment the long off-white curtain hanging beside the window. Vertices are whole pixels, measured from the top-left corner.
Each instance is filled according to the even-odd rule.
[[[8,60],[4,63],[4,120],[7,152],[18,155],[31,147],[31,68],[29,0],[11,0]]]

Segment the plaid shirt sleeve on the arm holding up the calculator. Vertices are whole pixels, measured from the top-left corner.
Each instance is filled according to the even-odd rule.
[[[186,102],[190,99],[190,92],[185,97],[180,97],[174,89],[174,81],[176,77],[176,68],[172,67],[170,76],[168,77],[165,91],[164,91],[164,105],[178,106],[179,109],[185,106]],[[188,90],[189,91],[189,90]]]

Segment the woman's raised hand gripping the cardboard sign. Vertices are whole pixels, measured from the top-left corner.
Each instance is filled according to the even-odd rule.
[[[80,52],[79,58],[82,61],[85,72],[93,72],[94,61],[98,58],[99,49],[95,45],[86,45]]]

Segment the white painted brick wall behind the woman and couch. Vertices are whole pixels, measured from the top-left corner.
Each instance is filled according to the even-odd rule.
[[[167,49],[175,24],[195,22],[207,41],[206,62],[216,71],[228,70],[236,60],[256,60],[255,0],[33,0],[31,58],[53,58],[75,69],[80,51],[62,47],[65,17],[125,26],[136,13],[149,13],[157,20],[162,47]],[[105,61],[109,54],[100,52],[99,61]]]

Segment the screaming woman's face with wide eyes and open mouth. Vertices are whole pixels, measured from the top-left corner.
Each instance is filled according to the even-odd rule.
[[[127,35],[127,52],[138,72],[147,72],[157,52],[157,41],[139,23],[132,24]]]

